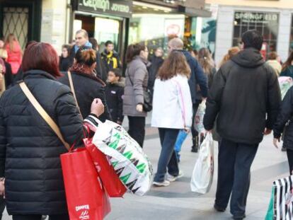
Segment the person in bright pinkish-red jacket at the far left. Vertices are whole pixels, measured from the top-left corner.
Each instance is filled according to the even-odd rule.
[[[13,34],[8,35],[5,49],[7,51],[7,60],[11,64],[12,74],[16,74],[19,66],[21,66],[21,60],[23,57],[23,52],[21,51],[21,45],[19,45],[18,40]]]

